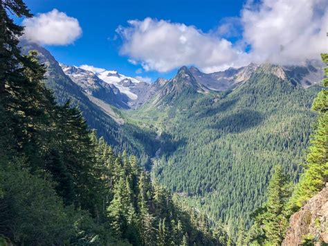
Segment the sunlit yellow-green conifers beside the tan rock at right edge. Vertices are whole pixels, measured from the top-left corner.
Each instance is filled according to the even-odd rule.
[[[322,54],[323,62],[328,62],[328,54]],[[328,76],[327,69],[325,69]],[[327,79],[322,81],[327,87]],[[300,180],[291,195],[291,184],[288,177],[277,166],[268,186],[268,198],[263,207],[254,213],[255,221],[248,232],[246,241],[259,245],[280,245],[288,228],[289,217],[304,205],[313,195],[316,195],[328,181],[328,90],[322,89],[313,100],[312,109],[318,113],[316,131],[311,135],[307,162],[304,165]],[[311,214],[309,214],[309,222]],[[320,227],[318,219],[316,227]],[[302,245],[313,245],[313,235],[303,235]]]

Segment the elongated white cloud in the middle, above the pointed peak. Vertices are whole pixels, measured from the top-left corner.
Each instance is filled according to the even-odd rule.
[[[120,52],[140,62],[145,71],[170,71],[194,64],[204,71],[217,71],[245,64],[243,51],[226,39],[202,33],[194,26],[157,21],[129,21],[117,32],[124,39]]]

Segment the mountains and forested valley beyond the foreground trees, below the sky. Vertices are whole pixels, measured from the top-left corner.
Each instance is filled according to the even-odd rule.
[[[21,46],[39,51],[58,103],[71,100],[114,150],[136,155],[154,179],[224,222],[231,234],[238,218],[249,225],[251,211],[264,202],[275,164],[298,179],[320,62],[215,73],[181,67],[174,78],[148,83],[60,64],[37,44]]]

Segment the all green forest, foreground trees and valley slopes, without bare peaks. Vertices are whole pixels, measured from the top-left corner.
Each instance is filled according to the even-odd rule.
[[[21,0],[1,1],[0,243],[280,245],[291,213],[327,182],[326,88],[292,193],[318,87],[278,78],[273,65],[210,94],[178,76],[142,108],[116,110],[120,127],[45,51],[43,82],[46,67],[35,51],[21,55],[24,29],[8,11],[31,16]]]

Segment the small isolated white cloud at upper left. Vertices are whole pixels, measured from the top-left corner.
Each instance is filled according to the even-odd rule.
[[[78,19],[56,9],[24,19],[23,26],[25,26],[23,37],[39,44],[72,44],[82,34]]]

